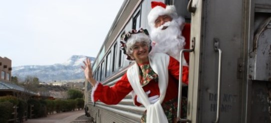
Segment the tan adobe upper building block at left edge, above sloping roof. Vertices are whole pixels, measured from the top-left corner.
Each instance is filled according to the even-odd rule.
[[[0,57],[0,81],[11,81],[11,60],[4,57]]]

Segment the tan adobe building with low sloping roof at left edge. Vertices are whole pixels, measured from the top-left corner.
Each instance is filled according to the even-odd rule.
[[[32,97],[36,93],[30,92],[11,83],[11,60],[0,57],[0,96],[12,95],[15,97]]]

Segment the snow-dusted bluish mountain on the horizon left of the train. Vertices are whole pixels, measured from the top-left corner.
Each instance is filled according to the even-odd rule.
[[[26,76],[37,77],[40,82],[84,79],[81,65],[86,57],[88,56],[73,55],[62,64],[12,67],[12,76],[17,76],[22,80]],[[91,63],[95,60],[94,57],[88,58]]]

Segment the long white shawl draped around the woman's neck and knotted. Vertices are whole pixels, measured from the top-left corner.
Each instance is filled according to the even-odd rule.
[[[141,103],[147,109],[146,123],[168,123],[167,118],[161,107],[168,83],[168,64],[169,56],[163,53],[155,53],[148,56],[152,70],[158,75],[159,100],[150,104],[143,88],[139,82],[139,68],[137,64],[132,65],[127,70],[128,81],[134,93],[140,98]]]

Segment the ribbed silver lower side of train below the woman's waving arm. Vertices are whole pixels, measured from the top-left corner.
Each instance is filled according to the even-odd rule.
[[[112,86],[119,79],[120,77],[104,85]],[[86,97],[90,114],[96,114],[96,116],[91,116],[97,120],[96,123],[138,123],[140,122],[142,113],[145,111],[144,107],[133,105],[130,94],[118,105],[106,105],[98,101],[95,103],[95,107],[93,107],[93,103],[91,102],[91,90],[87,92]]]

